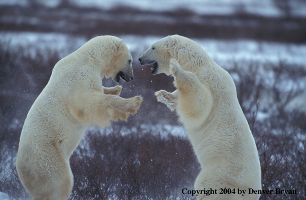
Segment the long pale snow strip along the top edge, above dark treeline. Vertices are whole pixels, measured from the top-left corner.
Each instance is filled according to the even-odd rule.
[[[248,12],[264,16],[280,16],[281,12],[274,6],[272,0],[105,0],[105,1],[84,1],[76,0],[75,5],[87,8],[101,8],[109,10],[118,6],[127,6],[137,8],[143,11],[175,11],[178,9],[187,9],[198,14],[204,15],[232,15],[237,12]],[[237,9],[239,8],[239,9]]]

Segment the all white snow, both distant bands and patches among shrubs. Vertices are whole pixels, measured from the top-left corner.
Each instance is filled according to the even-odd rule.
[[[163,11],[176,11],[179,9],[186,9],[194,11],[200,15],[236,15],[237,13],[254,14],[264,17],[282,17],[284,12],[277,8],[273,0],[181,0],[181,1],[170,1],[170,0],[75,0],[73,4],[80,8],[99,8],[102,10],[110,10],[116,7],[124,6],[140,11],[152,11],[152,12],[163,12]],[[33,1],[31,1],[33,2]],[[45,5],[47,7],[56,7],[61,3],[61,0],[36,0],[36,3]],[[306,1],[291,1],[291,14],[295,17],[306,17]],[[2,5],[19,5],[29,6],[30,0],[1,0],[0,6]],[[90,15],[91,16],[91,15]],[[93,17],[93,16],[91,16]],[[98,15],[98,18],[101,16]],[[124,16],[128,17],[128,16]],[[147,16],[152,20],[151,17],[154,15]],[[158,18],[158,16],[156,17]],[[7,18],[5,18],[7,19]],[[141,16],[142,20],[145,20],[144,16]],[[155,19],[155,18],[154,18]],[[21,19],[19,19],[21,20]],[[34,19],[34,22],[37,19]],[[171,20],[168,18],[158,18],[155,20]],[[191,20],[197,20],[192,18]],[[171,21],[169,21],[171,23]],[[236,22],[235,22],[236,23]],[[64,24],[67,25],[67,24]],[[292,24],[291,24],[292,25]],[[134,58],[133,65],[139,65],[138,58],[140,55],[155,41],[161,39],[164,36],[150,36],[150,35],[116,35],[124,39],[128,45],[131,54]],[[52,54],[58,54],[60,58],[67,56],[68,54],[75,51],[77,48],[82,46],[88,38],[84,36],[75,36],[62,33],[41,33],[41,32],[10,32],[0,31],[0,44],[5,46],[8,51],[15,52],[18,54],[24,54],[35,58],[37,55],[43,56],[46,60],[50,58]],[[257,40],[223,40],[223,39],[195,39],[205,51],[216,61],[221,67],[228,70],[231,69],[235,62],[246,63],[260,63],[264,66],[265,63],[272,63],[278,65],[281,62],[290,65],[297,65],[306,68],[306,43],[280,43],[270,41],[257,41]],[[13,54],[14,55],[14,54]],[[2,56],[2,55],[0,55]],[[18,59],[18,58],[16,58]],[[262,73],[266,77],[266,81],[269,81],[269,73]],[[233,76],[233,75],[232,75]],[[235,80],[235,76],[233,76]],[[272,78],[273,79],[273,76]],[[303,88],[306,88],[306,77],[301,80],[289,80],[284,82],[284,89],[295,87],[295,84],[301,84]],[[4,90],[0,89],[0,94],[4,94]],[[306,98],[306,91],[304,91],[297,100],[292,101],[291,105],[294,108],[304,109],[304,100]],[[267,113],[258,113],[258,118],[264,119],[269,117]],[[261,116],[260,116],[261,115]],[[16,121],[18,126],[18,120]],[[14,126],[17,126],[16,124]],[[90,130],[90,129],[89,129]],[[151,133],[171,133],[175,136],[185,137],[186,132],[181,126],[171,125],[141,125],[142,132]],[[111,132],[112,128],[99,129],[99,131],[106,133]],[[122,134],[129,134],[135,132],[133,128],[123,128]],[[86,147],[86,143],[81,143],[81,146]],[[14,160],[8,158],[10,161]],[[13,161],[14,162],[14,161]],[[6,169],[7,167],[5,167]],[[10,200],[9,196],[3,192],[0,192],[0,200]]]

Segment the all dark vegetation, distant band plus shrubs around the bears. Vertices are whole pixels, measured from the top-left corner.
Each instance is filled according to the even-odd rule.
[[[250,15],[244,8],[233,16],[197,16],[184,9],[148,13],[148,16],[156,15],[162,19],[177,19],[169,24],[159,20],[150,23],[135,20],[134,15],[147,14],[136,9],[118,7],[100,12],[98,9],[75,8],[69,5],[70,1],[62,2],[53,9],[39,5],[0,7],[1,17],[12,17],[0,22],[2,33],[60,32],[71,37],[82,35],[86,38],[84,41],[102,34],[158,35],[159,38],[179,34],[189,38],[306,42],[305,18],[296,17],[291,11],[281,18]],[[66,17],[64,11],[71,15]],[[88,23],[88,13],[106,17]],[[24,20],[19,20],[20,16]],[[33,17],[41,21],[32,23],[29,19]],[[194,17],[207,20],[202,20],[203,24],[189,23]],[[60,26],[61,19],[66,20],[67,26]],[[116,20],[113,19],[118,22],[114,23]],[[223,25],[213,22],[223,22]],[[234,22],[240,23],[236,25]],[[69,41],[78,43],[78,40]],[[26,199],[28,196],[14,165],[22,125],[35,98],[48,83],[54,65],[63,55],[49,46],[32,54],[32,49],[37,47],[35,44],[13,49],[13,42],[0,39],[0,191],[9,194],[11,199]],[[154,95],[160,89],[174,91],[173,78],[163,74],[152,76],[150,67],[140,67],[137,59],[148,46],[137,45],[139,52],[131,52],[134,80],[120,82],[123,85],[121,96],[142,95],[143,106],[128,123],[87,130],[70,158],[74,177],[71,200],[195,199],[195,196],[183,194],[182,189],[194,190],[200,165],[186,133],[177,124],[177,117],[158,103]],[[74,50],[65,49],[68,54]],[[235,52],[235,49],[226,50]],[[222,64],[220,59],[215,61],[235,81],[239,103],[258,149],[262,190],[274,190],[274,194],[261,194],[260,199],[306,199],[306,67],[305,64],[287,62],[286,57],[278,60],[233,60]],[[110,87],[116,83],[103,79],[103,85]],[[296,194],[275,194],[277,188],[279,191],[296,190]]]

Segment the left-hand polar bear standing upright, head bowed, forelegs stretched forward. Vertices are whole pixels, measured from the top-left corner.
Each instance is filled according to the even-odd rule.
[[[139,108],[141,96],[120,97],[121,86],[102,86],[104,76],[133,79],[131,54],[118,37],[95,37],[55,65],[25,119],[16,160],[33,199],[67,199],[73,186],[69,158],[86,128],[126,121]]]

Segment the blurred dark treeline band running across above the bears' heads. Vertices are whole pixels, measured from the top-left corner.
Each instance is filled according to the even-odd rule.
[[[57,8],[2,6],[0,13],[0,27],[5,31],[61,32],[89,38],[95,35],[179,34],[193,38],[306,42],[306,18],[263,17],[239,9],[236,15],[214,16],[199,15],[183,8],[167,12],[123,6],[99,10],[67,3]]]

